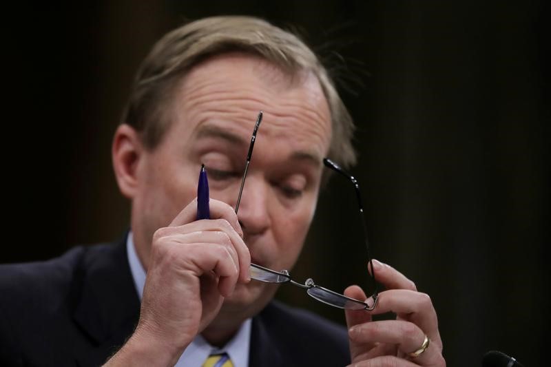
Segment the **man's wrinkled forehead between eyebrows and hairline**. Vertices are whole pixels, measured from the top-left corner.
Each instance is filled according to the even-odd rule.
[[[259,111],[261,136],[326,155],[331,118],[313,72],[289,75],[258,56],[222,54],[191,69],[171,104],[176,125],[194,134],[214,126],[250,138]]]

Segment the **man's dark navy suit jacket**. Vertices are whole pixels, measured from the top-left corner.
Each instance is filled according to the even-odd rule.
[[[132,334],[140,302],[119,244],[0,266],[0,366],[98,366]],[[344,366],[346,330],[271,302],[253,317],[250,366]]]

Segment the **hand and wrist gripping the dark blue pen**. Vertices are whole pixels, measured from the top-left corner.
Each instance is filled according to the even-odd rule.
[[[138,326],[110,364],[145,355],[143,348],[156,365],[176,364],[236,284],[250,281],[251,255],[236,213],[218,200],[209,205],[210,220],[195,221],[194,200],[154,233]],[[147,365],[147,359],[138,362]]]

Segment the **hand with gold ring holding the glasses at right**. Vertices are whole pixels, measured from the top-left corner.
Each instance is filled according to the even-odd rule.
[[[346,310],[351,360],[353,366],[446,366],[442,341],[433,303],[415,284],[391,266],[373,260],[377,282],[387,291],[379,294],[373,311]],[[366,300],[359,286],[344,291],[348,297]],[[372,315],[393,312],[394,320],[372,321]],[[430,344],[418,357],[408,353],[418,350],[425,335]]]

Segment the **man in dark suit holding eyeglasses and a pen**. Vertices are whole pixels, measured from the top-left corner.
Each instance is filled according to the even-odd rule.
[[[109,366],[202,366],[214,352],[205,366],[443,366],[430,298],[389,266],[374,262],[390,290],[374,311],[346,311],[348,335],[271,302],[276,286],[250,280],[251,262],[292,268],[322,158],[353,163],[351,131],[329,76],[295,36],[249,17],[203,19],[167,34],[141,66],[114,136],[131,231],[118,246],[4,266],[0,360],[94,365],[112,356]],[[209,220],[196,220],[201,164]],[[367,298],[357,286],[345,295]],[[371,322],[389,311],[397,319]]]

